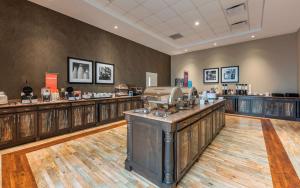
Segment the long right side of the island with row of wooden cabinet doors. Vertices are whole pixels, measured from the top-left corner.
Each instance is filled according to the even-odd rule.
[[[176,133],[177,179],[180,179],[223,127],[225,107],[221,106],[204,116],[193,116],[178,124],[190,125]],[[205,113],[204,113],[205,114]],[[197,120],[196,120],[197,118]],[[195,121],[196,120],[196,121]]]

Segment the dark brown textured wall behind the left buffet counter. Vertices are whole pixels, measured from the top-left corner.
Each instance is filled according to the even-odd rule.
[[[26,80],[35,93],[45,72],[59,73],[66,87],[67,57],[115,64],[116,83],[145,86],[145,72],[157,72],[170,85],[170,56],[26,0],[0,1],[0,91],[18,98]],[[113,91],[113,86],[73,85],[83,91]]]

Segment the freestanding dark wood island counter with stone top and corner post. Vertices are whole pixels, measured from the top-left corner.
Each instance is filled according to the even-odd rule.
[[[197,105],[166,118],[125,112],[125,168],[159,187],[176,184],[225,125],[225,101]]]

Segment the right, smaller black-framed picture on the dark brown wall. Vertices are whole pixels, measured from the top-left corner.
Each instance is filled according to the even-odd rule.
[[[96,62],[96,84],[114,84],[115,83],[115,65]]]

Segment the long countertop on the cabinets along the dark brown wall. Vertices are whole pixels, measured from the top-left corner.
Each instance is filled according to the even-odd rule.
[[[138,98],[141,96],[121,96],[121,97],[110,97],[110,98],[98,98],[98,99],[81,99],[75,101],[69,100],[58,100],[51,102],[43,102],[41,99],[37,103],[22,104],[20,100],[9,100],[8,104],[0,105],[1,108],[15,108],[15,107],[29,107],[29,106],[40,106],[40,105],[54,105],[54,104],[66,104],[66,103],[76,103],[76,102],[89,102],[89,101],[101,101],[101,100],[114,100],[114,99],[127,99],[127,98]]]

